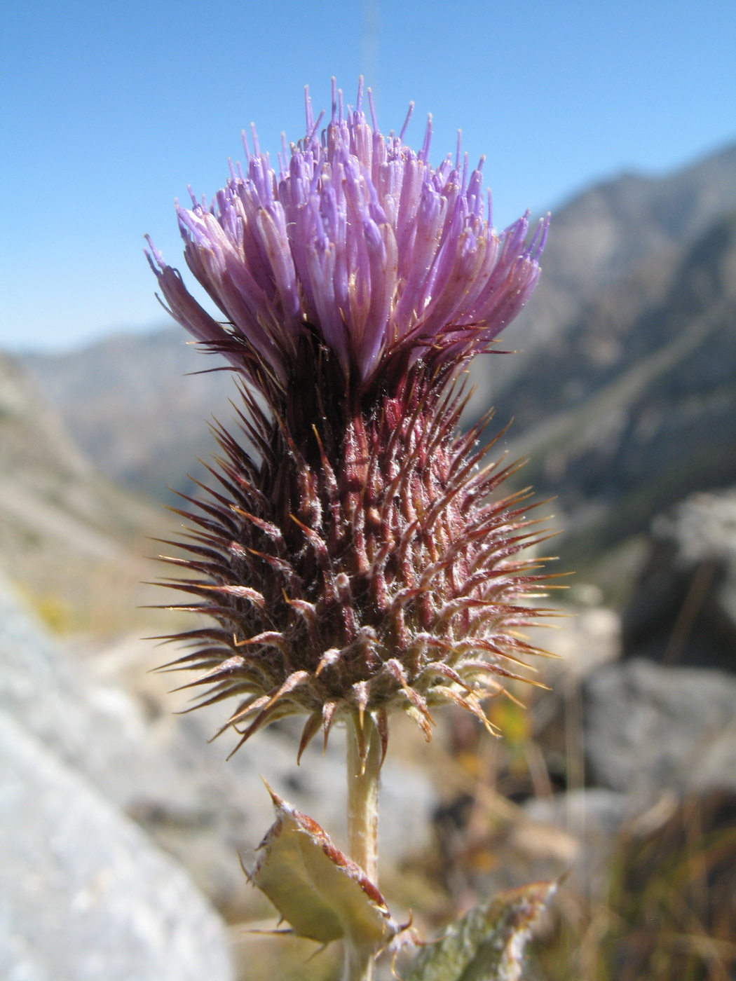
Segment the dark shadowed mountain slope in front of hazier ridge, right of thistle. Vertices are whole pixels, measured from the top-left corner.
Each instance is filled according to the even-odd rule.
[[[506,389],[508,449],[558,497],[578,566],[736,482],[735,318],[732,214],[601,293]]]

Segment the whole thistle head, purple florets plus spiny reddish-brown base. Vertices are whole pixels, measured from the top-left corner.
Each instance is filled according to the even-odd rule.
[[[489,499],[510,468],[479,469],[482,425],[457,434],[459,368],[486,350],[539,278],[547,222],[491,226],[481,165],[429,163],[333,86],[320,130],[279,155],[253,132],[247,167],[211,206],[178,207],[186,262],[224,321],[151,246],[170,312],[242,376],[244,441],[223,429],[217,486],[193,512],[179,582],[211,627],[178,635],[205,702],[237,697],[240,743],[308,715],[301,749],[347,713],[384,741],[400,708],[429,735],[430,708],[480,699],[534,650],[541,611],[520,552],[522,494]],[[408,116],[407,116],[408,122]],[[246,448],[246,446],[248,448]],[[238,744],[239,745],[239,744]]]

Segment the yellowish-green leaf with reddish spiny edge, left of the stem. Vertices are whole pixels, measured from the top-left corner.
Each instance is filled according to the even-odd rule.
[[[377,887],[316,821],[269,793],[276,822],[259,846],[253,884],[298,937],[321,944],[344,938],[375,951],[389,944],[399,927]]]

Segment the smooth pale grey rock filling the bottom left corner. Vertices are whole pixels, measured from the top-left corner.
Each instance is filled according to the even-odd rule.
[[[4,713],[0,784],[0,976],[229,981],[223,924],[184,870]]]

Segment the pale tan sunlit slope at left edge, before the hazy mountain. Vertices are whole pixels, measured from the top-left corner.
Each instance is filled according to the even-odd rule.
[[[0,356],[0,569],[47,623],[110,633],[133,619],[151,576],[143,538],[165,520],[100,477],[26,369]]]

